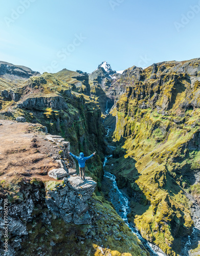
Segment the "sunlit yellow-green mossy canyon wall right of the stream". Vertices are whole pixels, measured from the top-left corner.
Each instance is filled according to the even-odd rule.
[[[199,86],[200,59],[133,67],[116,83],[124,94],[113,111],[110,169],[128,187],[130,221],[167,255],[180,253],[181,237],[194,224],[190,208],[198,208],[189,194],[198,197]]]

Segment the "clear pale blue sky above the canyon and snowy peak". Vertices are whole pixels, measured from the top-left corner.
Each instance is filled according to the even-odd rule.
[[[1,1],[0,60],[41,73],[200,57],[200,1]]]

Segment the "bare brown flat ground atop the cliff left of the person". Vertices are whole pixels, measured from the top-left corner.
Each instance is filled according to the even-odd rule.
[[[0,182],[54,180],[48,172],[59,167],[55,161],[59,147],[38,132],[41,125],[9,120],[0,120],[0,124]]]

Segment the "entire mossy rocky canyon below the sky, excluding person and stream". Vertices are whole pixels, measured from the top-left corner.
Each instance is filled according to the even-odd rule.
[[[144,241],[198,255],[199,95],[200,58],[122,74],[105,61],[91,74],[0,62],[1,253],[8,199],[5,255],[153,255]],[[66,148],[97,152],[85,183]],[[112,202],[106,172],[143,241]]]

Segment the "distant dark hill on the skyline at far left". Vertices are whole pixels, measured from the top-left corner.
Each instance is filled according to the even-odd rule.
[[[14,79],[29,79],[31,76],[40,76],[39,72],[32,71],[24,66],[13,65],[8,62],[0,61],[0,77]]]

